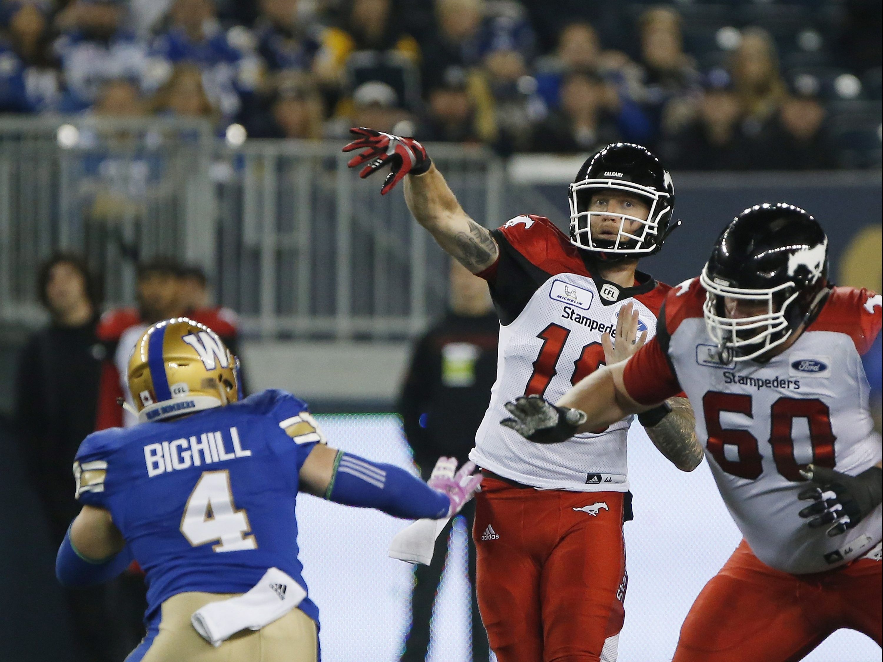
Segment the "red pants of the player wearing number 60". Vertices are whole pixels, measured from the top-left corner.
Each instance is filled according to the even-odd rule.
[[[693,603],[673,662],[791,662],[840,628],[880,643],[879,560],[789,575],[762,563],[743,540]]]

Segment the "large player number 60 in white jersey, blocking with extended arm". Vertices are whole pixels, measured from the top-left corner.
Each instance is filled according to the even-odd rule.
[[[797,660],[838,628],[881,641],[883,471],[862,363],[881,299],[827,282],[826,248],[803,209],[746,209],[702,275],[669,292],[656,337],[628,362],[559,407],[509,405],[506,425],[559,438],[562,413],[581,429],[605,425],[681,387],[698,406],[698,437],[744,539],[692,606],[674,662]]]

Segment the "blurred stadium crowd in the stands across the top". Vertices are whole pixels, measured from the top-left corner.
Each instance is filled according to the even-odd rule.
[[[879,167],[879,32],[876,0],[0,0],[0,113]]]

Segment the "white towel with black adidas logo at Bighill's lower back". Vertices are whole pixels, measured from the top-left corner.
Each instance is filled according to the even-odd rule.
[[[279,568],[270,568],[260,582],[236,598],[211,602],[193,612],[190,622],[213,646],[245,628],[258,630],[298,606],[306,591]]]

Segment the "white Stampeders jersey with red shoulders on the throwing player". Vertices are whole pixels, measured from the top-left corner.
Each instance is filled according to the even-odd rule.
[[[601,336],[615,334],[628,302],[639,331],[655,333],[669,288],[643,282],[623,288],[592,275],[576,247],[540,216],[518,216],[494,231],[500,260],[486,277],[500,315],[497,379],[470,458],[503,478],[543,489],[627,492],[626,436],[630,419],[598,433],[537,444],[500,425],[503,405],[519,395],[550,402],[604,363]]]

